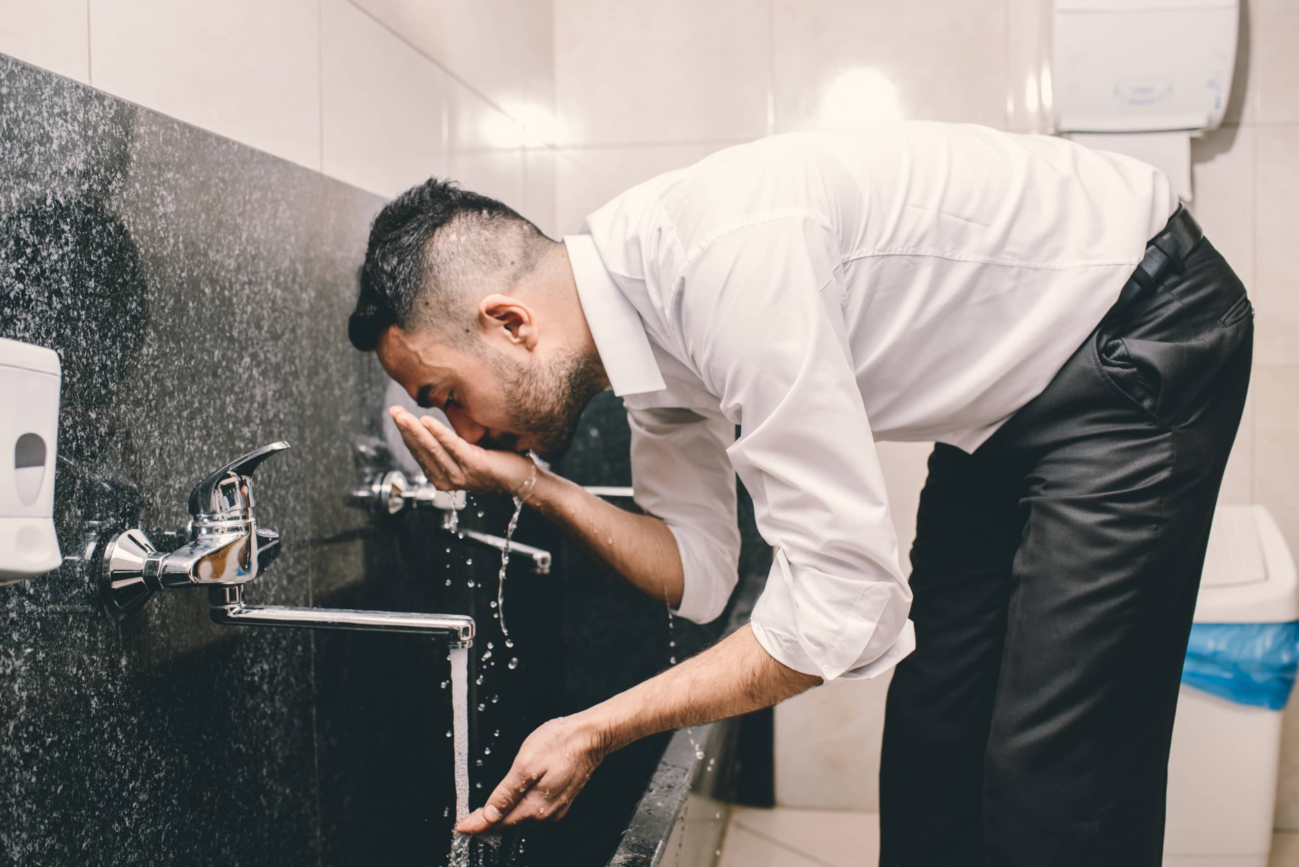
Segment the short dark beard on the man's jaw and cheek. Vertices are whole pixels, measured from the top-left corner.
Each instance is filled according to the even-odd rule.
[[[564,457],[587,404],[605,387],[598,357],[569,352],[548,363],[523,365],[496,354],[491,363],[512,401],[509,426],[536,439],[533,452],[538,457],[547,461]],[[517,452],[518,439],[518,434],[485,436],[478,444]]]

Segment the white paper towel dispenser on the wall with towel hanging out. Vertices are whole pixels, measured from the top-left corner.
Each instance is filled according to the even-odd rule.
[[[1222,123],[1239,19],[1239,0],[1051,0],[1052,128],[1154,164],[1190,200],[1190,139]]]

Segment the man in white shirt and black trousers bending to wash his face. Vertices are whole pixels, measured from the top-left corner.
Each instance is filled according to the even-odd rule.
[[[542,726],[462,831],[561,818],[638,737],[896,666],[882,864],[1160,862],[1252,339],[1161,173],[977,126],[795,134],[561,243],[430,180],[374,221],[349,334],[451,421],[392,409],[434,484],[522,496],[682,617],[735,584],[734,472],[776,549],[748,627]],[[611,387],[646,514],[520,454]],[[909,587],[873,440],[938,443]]]

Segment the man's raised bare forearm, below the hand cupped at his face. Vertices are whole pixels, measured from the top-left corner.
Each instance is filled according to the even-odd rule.
[[[638,515],[600,500],[581,485],[538,469],[527,505],[557,524],[588,557],[640,592],[681,605],[681,552],[672,531],[653,515]]]

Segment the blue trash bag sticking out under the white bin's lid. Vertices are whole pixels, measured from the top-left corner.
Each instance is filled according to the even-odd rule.
[[[1281,710],[1299,670],[1299,622],[1196,623],[1182,683],[1241,705]]]

